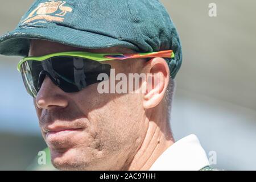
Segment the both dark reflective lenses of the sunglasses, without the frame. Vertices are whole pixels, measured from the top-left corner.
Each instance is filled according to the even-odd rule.
[[[100,82],[101,80],[98,80],[100,73],[110,76],[111,69],[109,64],[72,56],[57,56],[44,61],[26,62],[22,64],[21,71],[26,89],[33,97],[38,93],[45,75],[64,92],[79,92],[88,85]]]

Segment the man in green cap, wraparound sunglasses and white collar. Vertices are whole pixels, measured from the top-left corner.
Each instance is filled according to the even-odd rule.
[[[195,135],[175,142],[171,133],[182,55],[159,1],[35,1],[0,53],[26,57],[18,69],[55,168],[209,169]],[[136,88],[129,74],[146,79]]]

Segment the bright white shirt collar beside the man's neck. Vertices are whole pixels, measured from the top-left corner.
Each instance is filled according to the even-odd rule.
[[[172,144],[151,166],[150,171],[198,171],[209,166],[207,155],[196,135]]]

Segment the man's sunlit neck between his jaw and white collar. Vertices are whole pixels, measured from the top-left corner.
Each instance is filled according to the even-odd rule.
[[[156,159],[174,143],[168,116],[163,115],[163,113],[163,108],[158,108],[155,111],[148,111],[146,114],[147,133],[128,170],[147,171]]]

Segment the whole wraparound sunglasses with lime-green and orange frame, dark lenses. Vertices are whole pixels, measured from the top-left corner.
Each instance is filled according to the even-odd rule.
[[[171,50],[133,54],[59,52],[39,57],[24,57],[19,61],[18,71],[22,75],[28,94],[36,97],[46,76],[64,92],[73,93],[103,81],[98,80],[101,73],[110,76],[111,65],[104,64],[104,61],[174,56]]]

